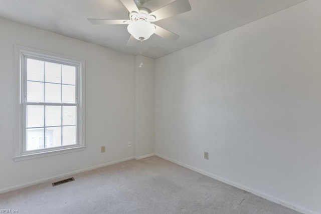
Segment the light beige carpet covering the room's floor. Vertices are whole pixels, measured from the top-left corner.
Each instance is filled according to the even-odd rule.
[[[19,213],[298,213],[153,156],[0,194]],[[56,180],[55,180],[56,181]]]

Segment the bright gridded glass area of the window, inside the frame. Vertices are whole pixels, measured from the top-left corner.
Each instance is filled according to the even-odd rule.
[[[77,66],[25,56],[25,151],[77,144]]]

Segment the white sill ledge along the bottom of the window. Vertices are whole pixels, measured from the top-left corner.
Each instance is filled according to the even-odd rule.
[[[15,156],[13,158],[15,161],[22,161],[22,160],[48,157],[48,156],[59,155],[59,154],[66,154],[66,153],[76,152],[76,151],[84,151],[85,149],[86,149],[86,146],[79,146],[74,148],[59,149],[59,150],[46,151],[46,152],[40,152],[35,154],[25,154],[25,155]]]

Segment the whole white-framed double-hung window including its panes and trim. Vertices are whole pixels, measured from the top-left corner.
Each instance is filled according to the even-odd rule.
[[[16,158],[84,148],[84,62],[29,48],[16,47],[16,51],[20,62],[20,145],[15,149]]]

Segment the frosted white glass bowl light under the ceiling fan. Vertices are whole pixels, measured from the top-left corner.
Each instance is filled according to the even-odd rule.
[[[155,26],[145,20],[137,20],[129,23],[127,30],[136,40],[143,41],[155,33]]]

